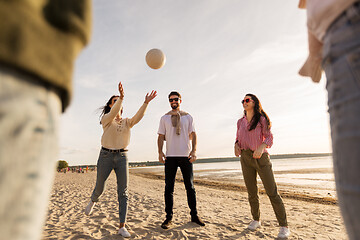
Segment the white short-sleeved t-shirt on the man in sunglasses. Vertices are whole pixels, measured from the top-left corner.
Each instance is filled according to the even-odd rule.
[[[180,135],[171,123],[171,115],[160,119],[158,134],[165,135],[167,157],[187,157],[191,151],[190,133],[195,132],[193,118],[188,115],[180,117]]]

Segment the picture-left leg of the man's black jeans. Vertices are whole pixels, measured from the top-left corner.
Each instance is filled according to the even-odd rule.
[[[178,162],[175,157],[167,157],[165,160],[165,212],[166,218],[172,219],[174,205],[174,185]]]

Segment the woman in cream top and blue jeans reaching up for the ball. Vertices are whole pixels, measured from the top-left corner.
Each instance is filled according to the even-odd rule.
[[[89,204],[85,208],[85,214],[93,212],[95,203],[104,191],[106,179],[112,170],[115,170],[118,184],[119,234],[123,237],[130,237],[130,233],[125,227],[128,201],[128,177],[129,163],[127,159],[127,146],[130,143],[130,129],[137,124],[144,116],[145,110],[151,100],[156,97],[156,91],[146,94],[144,104],[132,118],[122,118],[122,103],[124,99],[124,89],[121,82],[118,85],[120,96],[112,96],[102,107],[100,124],[103,127],[101,137],[101,150],[97,162],[96,185],[91,195]]]

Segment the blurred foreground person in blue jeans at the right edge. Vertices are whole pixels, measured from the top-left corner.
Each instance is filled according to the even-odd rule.
[[[360,2],[301,0],[307,9],[309,57],[300,75],[325,70],[334,174],[351,240],[360,239]]]

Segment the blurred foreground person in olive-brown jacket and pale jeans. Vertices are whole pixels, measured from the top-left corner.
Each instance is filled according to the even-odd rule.
[[[40,239],[90,0],[0,0],[0,238]]]

